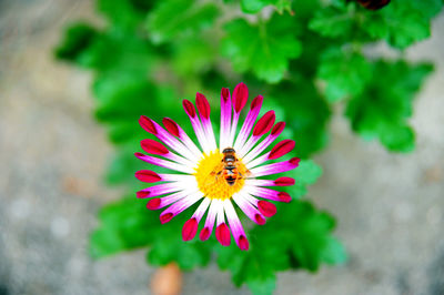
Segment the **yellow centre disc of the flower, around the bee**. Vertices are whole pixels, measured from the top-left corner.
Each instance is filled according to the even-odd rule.
[[[245,183],[243,175],[246,174],[246,167],[241,160],[236,162],[238,177],[233,185],[229,185],[225,180],[223,154],[215,150],[210,154],[204,154],[195,169],[195,179],[199,190],[206,197],[226,200],[239,192]]]

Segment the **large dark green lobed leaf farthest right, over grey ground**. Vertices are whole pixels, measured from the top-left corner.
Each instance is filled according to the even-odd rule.
[[[380,139],[390,151],[412,151],[414,133],[407,119],[414,94],[431,71],[425,63],[377,61],[367,88],[347,104],[345,115],[352,129],[365,139]]]

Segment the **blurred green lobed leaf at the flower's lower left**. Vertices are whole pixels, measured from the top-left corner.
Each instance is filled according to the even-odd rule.
[[[154,265],[176,262],[182,269],[191,269],[208,264],[211,242],[182,241],[181,228],[188,211],[161,225],[159,213],[148,211],[144,203],[128,196],[100,211],[101,225],[90,240],[90,253],[94,258],[150,246],[147,257]]]

